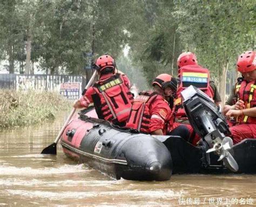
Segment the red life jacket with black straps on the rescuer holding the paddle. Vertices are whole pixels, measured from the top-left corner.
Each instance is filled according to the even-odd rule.
[[[98,118],[118,124],[126,122],[133,101],[132,93],[125,85],[123,75],[117,73],[93,85],[92,95]]]

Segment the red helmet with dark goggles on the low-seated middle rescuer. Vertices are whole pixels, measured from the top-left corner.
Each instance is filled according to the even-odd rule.
[[[166,87],[171,87],[174,91],[177,91],[177,80],[169,74],[163,73],[154,78],[152,85],[159,85],[161,89],[165,89]]]

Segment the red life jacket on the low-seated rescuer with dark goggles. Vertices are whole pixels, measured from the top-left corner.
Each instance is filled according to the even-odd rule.
[[[151,119],[151,104],[160,95],[157,92],[146,91],[140,92],[139,95],[134,99],[132,108],[126,127],[136,129],[141,133],[150,133],[150,119]],[[163,129],[164,134],[168,130],[168,120],[171,116],[166,117],[166,123]]]

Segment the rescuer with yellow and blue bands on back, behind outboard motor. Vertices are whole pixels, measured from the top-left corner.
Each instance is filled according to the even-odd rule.
[[[175,123],[174,128],[179,126],[179,123],[186,124],[190,130],[189,140],[193,145],[197,145],[197,142],[200,140],[200,137],[194,133],[191,125],[188,122],[186,113],[183,109],[181,102],[181,91],[194,85],[200,90],[204,91],[209,97],[213,99],[215,104],[221,106],[221,99],[217,86],[213,81],[210,80],[210,72],[207,68],[203,68],[198,65],[197,57],[191,52],[181,53],[177,60],[178,66],[178,90],[177,97],[175,101]]]

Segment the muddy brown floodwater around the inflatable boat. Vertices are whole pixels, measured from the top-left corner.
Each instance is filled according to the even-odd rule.
[[[253,206],[256,175],[173,175],[170,181],[113,180],[66,158],[41,155],[54,122],[0,132],[0,206]]]

